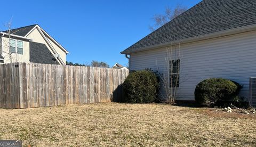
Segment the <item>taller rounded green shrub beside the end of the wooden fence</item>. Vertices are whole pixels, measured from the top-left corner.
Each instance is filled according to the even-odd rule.
[[[150,70],[134,71],[124,81],[124,102],[150,103],[156,99],[158,81]]]

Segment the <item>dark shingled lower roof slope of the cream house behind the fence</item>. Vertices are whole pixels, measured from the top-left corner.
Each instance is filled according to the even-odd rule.
[[[45,44],[30,42],[29,48],[30,62],[43,64],[59,64],[57,61],[55,61],[53,54],[49,51]]]

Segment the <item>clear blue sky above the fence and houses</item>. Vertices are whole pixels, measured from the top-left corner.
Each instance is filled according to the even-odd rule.
[[[189,8],[200,1],[3,1],[0,29],[11,18],[12,28],[37,23],[70,52],[69,62],[97,60],[125,66],[128,61],[120,52],[150,33],[154,14],[164,13],[166,6]]]

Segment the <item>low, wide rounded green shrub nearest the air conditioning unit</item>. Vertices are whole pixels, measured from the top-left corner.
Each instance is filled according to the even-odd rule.
[[[235,81],[211,78],[201,81],[195,89],[195,100],[199,105],[211,106],[219,101],[233,101],[242,86]]]

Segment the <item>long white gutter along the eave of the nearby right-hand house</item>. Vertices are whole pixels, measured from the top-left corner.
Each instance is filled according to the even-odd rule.
[[[170,46],[170,44],[177,45],[179,43],[185,44],[185,43],[197,42],[197,41],[201,41],[201,40],[218,38],[218,37],[223,37],[223,36],[228,36],[228,35],[234,35],[234,34],[239,34],[242,32],[253,31],[253,30],[256,30],[256,25],[249,25],[249,26],[229,29],[229,30],[225,30],[225,31],[218,31],[218,32],[210,33],[210,34],[205,34],[205,35],[200,35],[200,36],[195,36],[195,37],[190,37],[190,38],[185,38],[185,39],[180,39],[180,40],[174,40],[172,42],[166,42],[166,43],[161,43],[161,44],[156,44],[156,45],[151,45],[151,46],[146,46],[146,47],[141,47],[141,48],[134,48],[134,49],[131,49],[128,51],[123,51],[123,52],[121,52],[121,54],[131,54],[131,53],[136,53],[136,52],[141,52],[141,51],[146,51],[146,50],[154,50],[156,48]]]

